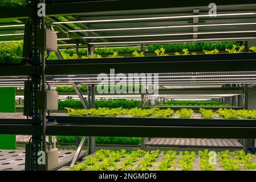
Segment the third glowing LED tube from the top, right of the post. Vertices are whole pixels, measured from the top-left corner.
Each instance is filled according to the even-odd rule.
[[[97,44],[144,44],[144,43],[172,43],[172,42],[196,42],[196,41],[217,41],[217,40],[248,40],[256,39],[256,37],[245,38],[208,38],[208,39],[180,39],[180,40],[151,40],[151,41],[133,41],[133,42],[101,42],[101,43],[89,43],[93,45]]]

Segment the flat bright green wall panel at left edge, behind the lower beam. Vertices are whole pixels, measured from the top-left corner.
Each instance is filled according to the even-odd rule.
[[[15,88],[0,88],[0,113],[15,113]],[[0,149],[15,148],[15,135],[0,135]]]

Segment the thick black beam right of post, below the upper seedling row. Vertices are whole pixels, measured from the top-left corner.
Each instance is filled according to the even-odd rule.
[[[49,60],[46,75],[256,71],[256,54],[219,54],[113,59]]]

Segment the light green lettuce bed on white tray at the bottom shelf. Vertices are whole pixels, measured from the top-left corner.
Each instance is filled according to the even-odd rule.
[[[214,156],[215,155],[215,156]],[[215,159],[214,159],[215,158]],[[71,171],[239,171],[255,170],[256,155],[244,151],[99,150]]]

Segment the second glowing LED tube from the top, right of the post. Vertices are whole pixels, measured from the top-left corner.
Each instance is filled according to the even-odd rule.
[[[90,31],[120,31],[120,30],[147,30],[147,29],[164,29],[164,28],[186,28],[186,27],[213,27],[213,26],[242,26],[255,25],[256,23],[220,23],[220,24],[190,24],[177,26],[160,26],[160,27],[130,27],[130,28],[104,28],[92,30],[69,30],[68,32],[90,32]]]

